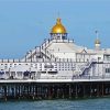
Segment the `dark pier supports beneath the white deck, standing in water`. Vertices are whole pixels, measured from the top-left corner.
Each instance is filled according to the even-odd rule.
[[[78,99],[110,96],[110,81],[0,82],[0,100]]]

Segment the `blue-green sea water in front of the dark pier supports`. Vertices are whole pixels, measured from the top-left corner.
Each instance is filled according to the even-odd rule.
[[[110,110],[110,98],[0,101],[0,110]]]

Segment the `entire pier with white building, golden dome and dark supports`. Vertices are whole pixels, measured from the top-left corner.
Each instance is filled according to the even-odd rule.
[[[78,99],[110,95],[110,48],[68,38],[58,18],[51,36],[20,59],[0,59],[0,99]]]

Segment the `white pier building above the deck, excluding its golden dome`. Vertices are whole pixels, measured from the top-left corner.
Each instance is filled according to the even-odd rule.
[[[50,40],[23,58],[0,59],[0,80],[108,79],[110,48],[100,48],[97,43],[95,50],[88,50],[68,40],[67,34],[51,34]]]

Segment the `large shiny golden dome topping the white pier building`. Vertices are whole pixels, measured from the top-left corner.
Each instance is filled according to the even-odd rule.
[[[66,29],[63,26],[61,19],[57,19],[56,24],[52,28],[52,32],[54,34],[65,34],[66,33]]]

